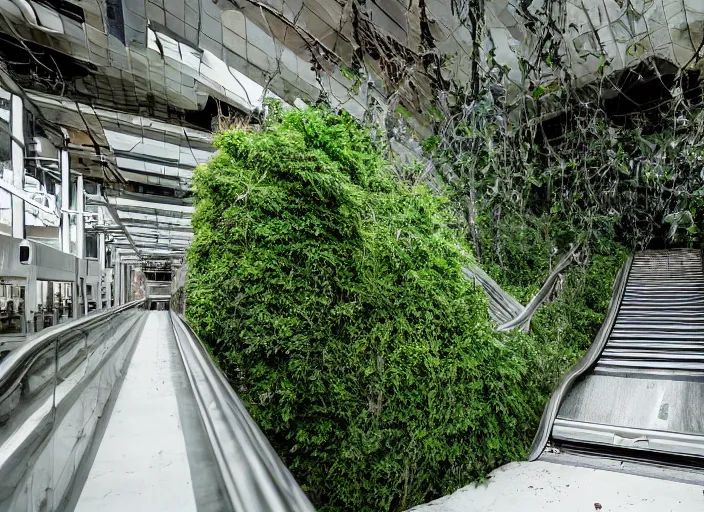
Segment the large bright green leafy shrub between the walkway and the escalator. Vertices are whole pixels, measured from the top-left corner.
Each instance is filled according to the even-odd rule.
[[[442,200],[344,114],[216,145],[188,318],[320,510],[404,510],[523,456],[564,354],[494,332]]]

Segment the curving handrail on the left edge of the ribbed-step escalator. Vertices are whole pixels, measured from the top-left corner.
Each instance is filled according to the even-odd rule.
[[[552,425],[555,422],[557,413],[560,409],[562,401],[567,396],[567,393],[572,388],[575,381],[584,373],[589,371],[599,359],[606,342],[609,339],[611,330],[613,329],[614,322],[616,321],[616,316],[621,308],[621,301],[623,300],[623,294],[626,290],[626,283],[628,282],[628,275],[631,271],[631,265],[633,264],[633,256],[629,256],[623,267],[616,276],[614,282],[613,292],[611,295],[611,302],[609,303],[609,308],[606,311],[604,317],[604,322],[601,324],[601,328],[594,338],[594,342],[587,353],[579,360],[579,362],[572,367],[572,369],[565,375],[562,382],[557,387],[555,392],[550,397],[543,415],[540,418],[540,424],[538,426],[538,431],[533,439],[533,445],[531,446],[528,460],[537,460],[543,453],[545,446],[550,439],[550,432],[552,431]]]

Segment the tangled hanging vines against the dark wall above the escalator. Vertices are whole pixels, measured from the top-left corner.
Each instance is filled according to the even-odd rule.
[[[515,246],[534,251],[536,237],[546,241],[545,268],[578,239],[586,263],[614,242],[696,243],[702,228],[698,73],[657,60],[614,73],[602,51],[597,79],[579,85],[565,57],[564,4],[521,2],[530,51],[519,58],[520,80],[488,51],[478,88],[438,95],[440,120],[426,142],[478,259],[508,273]],[[634,76],[658,94],[634,100]]]

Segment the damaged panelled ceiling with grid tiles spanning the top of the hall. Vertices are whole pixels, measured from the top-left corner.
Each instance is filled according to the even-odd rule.
[[[422,134],[438,84],[467,84],[475,51],[483,61],[493,49],[520,81],[538,44],[526,20],[548,4],[480,3],[482,13],[469,0],[0,0],[0,86],[21,87],[46,136],[68,138],[72,169],[103,185],[89,198],[100,229],[135,258],[180,257],[211,131],[256,122],[263,96],[324,97],[377,120],[403,107]],[[614,70],[650,57],[691,67],[699,4],[565,0],[560,44],[585,82],[601,65],[595,41]]]

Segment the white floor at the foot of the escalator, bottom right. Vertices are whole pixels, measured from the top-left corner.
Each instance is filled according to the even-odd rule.
[[[704,487],[550,462],[514,462],[487,483],[411,509],[413,512],[695,512]],[[410,512],[410,511],[409,511]]]

